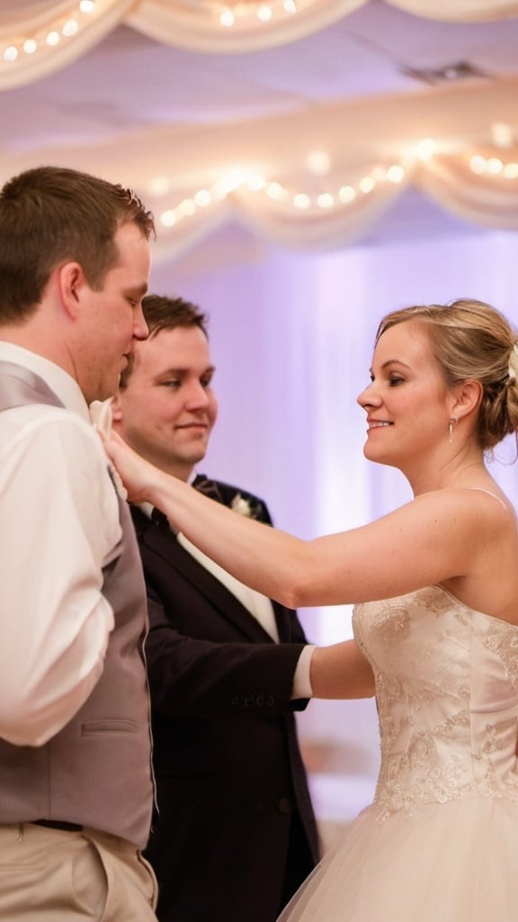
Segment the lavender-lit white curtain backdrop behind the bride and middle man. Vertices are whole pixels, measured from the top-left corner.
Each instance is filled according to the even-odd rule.
[[[277,525],[301,537],[354,527],[406,502],[402,476],[362,455],[356,396],[378,321],[409,303],[471,296],[518,326],[517,252],[517,233],[486,232],[332,254],[266,248],[247,265],[205,272],[156,265],[153,290],[181,293],[211,318],[220,415],[206,472],[264,495]],[[511,440],[491,470],[518,507],[515,455]],[[302,617],[318,643],[349,635],[348,609]],[[374,704],[312,702],[300,729],[313,747],[338,753],[335,770],[312,774],[319,816],[348,819],[372,795]]]

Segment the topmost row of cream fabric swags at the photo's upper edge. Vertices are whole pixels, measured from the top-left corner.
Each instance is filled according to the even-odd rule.
[[[88,2],[88,0],[87,0]],[[0,17],[0,89],[24,86],[77,60],[125,24],[178,48],[245,53],[298,41],[332,25],[370,0],[80,0],[30,5]],[[518,16],[518,0],[384,0],[406,13],[450,22]],[[268,6],[269,18],[259,16]],[[229,20],[222,22],[226,14]],[[227,24],[225,25],[225,21]],[[71,25],[71,23],[75,25]],[[65,32],[63,31],[65,28]],[[67,30],[69,34],[67,34]],[[48,36],[57,33],[50,43]],[[24,50],[29,41],[29,52]],[[36,42],[34,49],[31,42]]]

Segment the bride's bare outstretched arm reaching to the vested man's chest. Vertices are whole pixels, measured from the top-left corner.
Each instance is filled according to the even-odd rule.
[[[116,435],[105,444],[132,502],[152,502],[208,557],[289,608],[394,597],[464,575],[499,527],[499,505],[482,493],[440,490],[371,525],[303,541],[207,499]]]

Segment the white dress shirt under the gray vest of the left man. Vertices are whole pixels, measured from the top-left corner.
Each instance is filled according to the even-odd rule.
[[[0,412],[0,736],[41,745],[86,701],[113,627],[103,565],[118,502],[77,382],[0,342],[0,361],[39,375],[66,408]]]

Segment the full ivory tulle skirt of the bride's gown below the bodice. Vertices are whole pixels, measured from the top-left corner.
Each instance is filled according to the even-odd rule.
[[[518,922],[518,804],[363,810],[278,922]]]

